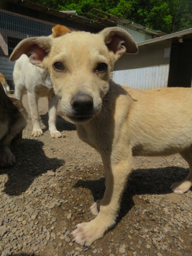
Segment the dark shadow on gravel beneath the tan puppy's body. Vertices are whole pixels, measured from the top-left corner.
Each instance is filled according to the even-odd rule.
[[[170,189],[172,183],[184,180],[188,173],[189,169],[177,166],[155,169],[135,169],[131,173],[123,192],[117,222],[135,206],[133,201],[134,195],[160,195],[172,193]],[[100,178],[99,180],[78,181],[74,187],[90,189],[94,201],[96,201],[103,198],[105,192],[105,178]]]

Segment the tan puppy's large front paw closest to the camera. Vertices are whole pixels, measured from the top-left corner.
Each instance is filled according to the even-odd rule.
[[[95,219],[90,222],[77,224],[76,230],[71,233],[71,235],[74,237],[73,242],[83,246],[90,246],[94,241],[103,237],[104,235],[105,230],[103,230],[100,225],[97,224]]]

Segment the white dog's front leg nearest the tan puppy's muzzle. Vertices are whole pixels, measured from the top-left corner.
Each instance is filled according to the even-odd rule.
[[[48,96],[49,102],[49,131],[52,138],[60,138],[61,133],[56,128],[58,97],[55,94]]]

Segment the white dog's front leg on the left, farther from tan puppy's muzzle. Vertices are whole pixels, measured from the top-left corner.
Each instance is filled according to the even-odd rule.
[[[35,95],[35,92],[30,93],[29,91],[27,91],[27,96],[33,125],[32,136],[39,137],[43,134],[43,131],[41,130],[40,116],[38,112],[38,97]]]

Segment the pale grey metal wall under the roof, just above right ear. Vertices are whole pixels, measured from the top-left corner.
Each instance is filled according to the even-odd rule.
[[[121,23],[117,23],[119,28],[125,29],[136,41],[136,43],[140,43],[149,39],[152,39],[152,35],[147,35],[144,32],[137,31],[136,29],[131,29],[128,26],[124,26]]]

